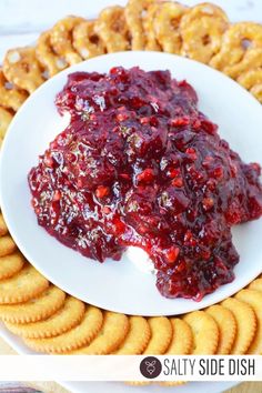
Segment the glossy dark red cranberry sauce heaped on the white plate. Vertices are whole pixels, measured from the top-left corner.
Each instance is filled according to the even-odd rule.
[[[262,215],[260,167],[220,139],[193,88],[113,68],[69,75],[56,103],[71,121],[29,174],[39,224],[100,262],[142,248],[167,298],[231,282],[231,226]]]

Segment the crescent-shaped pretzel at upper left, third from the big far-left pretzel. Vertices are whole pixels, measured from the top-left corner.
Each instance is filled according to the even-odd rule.
[[[59,20],[50,30],[50,43],[54,52],[64,59],[69,66],[82,61],[81,57],[73,48],[72,32],[73,29],[83,21],[83,18],[70,16]]]

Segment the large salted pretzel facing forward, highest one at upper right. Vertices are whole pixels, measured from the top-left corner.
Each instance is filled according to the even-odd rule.
[[[191,8],[181,19],[181,54],[208,63],[221,48],[229,20],[224,11],[211,3]]]

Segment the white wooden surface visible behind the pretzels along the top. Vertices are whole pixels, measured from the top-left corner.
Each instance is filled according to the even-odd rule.
[[[180,0],[193,6],[199,0]],[[222,7],[230,20],[262,22],[262,0],[210,0]],[[34,42],[39,32],[67,14],[95,17],[101,10],[127,0],[0,0],[0,59],[9,48]]]

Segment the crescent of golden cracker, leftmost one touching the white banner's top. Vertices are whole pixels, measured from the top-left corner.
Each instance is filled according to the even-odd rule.
[[[103,315],[100,309],[88,305],[79,325],[68,332],[50,339],[23,339],[34,351],[46,353],[67,353],[90,343],[102,326]]]

